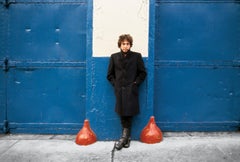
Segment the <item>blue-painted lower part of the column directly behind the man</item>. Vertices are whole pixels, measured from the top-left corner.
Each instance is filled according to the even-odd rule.
[[[144,59],[147,66],[147,61]],[[91,76],[88,80],[89,106],[86,108],[86,118],[91,121],[91,127],[98,133],[99,139],[116,139],[121,132],[118,115],[114,111],[115,96],[113,87],[106,79],[109,58],[91,59]],[[141,130],[146,125],[151,114],[151,107],[147,105],[147,80],[140,86],[140,111],[133,120],[132,137],[138,139]]]

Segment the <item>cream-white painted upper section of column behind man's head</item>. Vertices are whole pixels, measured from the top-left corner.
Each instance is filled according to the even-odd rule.
[[[93,0],[93,57],[118,52],[118,37],[133,37],[132,51],[148,57],[149,0]]]

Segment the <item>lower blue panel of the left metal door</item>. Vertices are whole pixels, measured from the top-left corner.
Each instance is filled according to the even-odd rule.
[[[13,133],[34,132],[36,126],[47,133],[60,124],[62,132],[73,133],[85,119],[85,68],[11,69],[7,88]]]

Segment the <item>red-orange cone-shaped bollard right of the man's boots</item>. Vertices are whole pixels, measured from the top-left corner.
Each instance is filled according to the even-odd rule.
[[[163,140],[162,131],[155,123],[154,116],[151,116],[147,126],[142,130],[140,140],[144,143],[159,143]]]

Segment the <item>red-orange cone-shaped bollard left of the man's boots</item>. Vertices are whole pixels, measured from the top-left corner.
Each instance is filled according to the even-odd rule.
[[[90,145],[97,141],[95,133],[90,128],[88,120],[84,120],[82,129],[78,132],[76,137],[76,144],[79,145]]]

